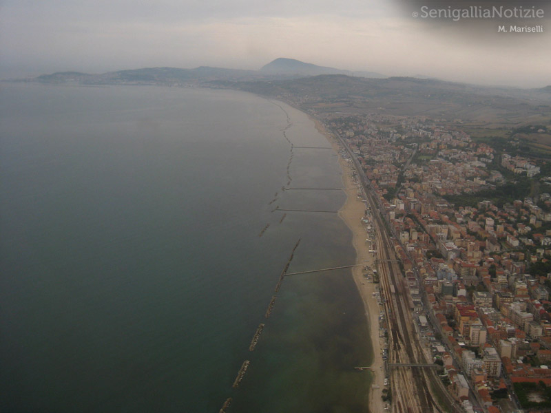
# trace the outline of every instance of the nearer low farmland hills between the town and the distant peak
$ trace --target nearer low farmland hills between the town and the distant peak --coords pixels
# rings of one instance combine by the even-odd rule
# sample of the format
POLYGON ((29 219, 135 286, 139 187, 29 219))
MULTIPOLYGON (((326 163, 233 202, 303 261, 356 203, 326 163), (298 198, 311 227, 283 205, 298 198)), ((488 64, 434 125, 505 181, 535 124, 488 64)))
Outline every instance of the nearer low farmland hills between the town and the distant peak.
POLYGON ((342 74, 291 81, 244 82, 247 92, 287 100, 309 113, 430 116, 470 125, 518 126, 526 118, 548 123, 551 96, 527 89, 481 87, 409 77, 358 78, 342 74))

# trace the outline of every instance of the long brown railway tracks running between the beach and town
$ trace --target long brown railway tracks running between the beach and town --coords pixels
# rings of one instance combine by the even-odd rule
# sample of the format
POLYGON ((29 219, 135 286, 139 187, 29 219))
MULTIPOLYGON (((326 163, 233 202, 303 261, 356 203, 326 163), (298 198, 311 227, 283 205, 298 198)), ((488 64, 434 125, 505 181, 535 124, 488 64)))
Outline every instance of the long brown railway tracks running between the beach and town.
MULTIPOLYGON (((346 145, 342 145, 346 148, 346 145)), ((355 158, 349 153, 353 162, 355 158)), ((355 165, 356 171, 361 171, 355 165)), ((393 251, 393 242, 379 211, 379 204, 370 191, 365 176, 356 176, 359 193, 366 201, 370 230, 371 249, 377 259, 377 273, 380 282, 380 329, 388 332, 382 354, 385 372, 385 411, 395 413, 462 412, 453 396, 444 387, 430 354, 419 341, 415 330, 413 305, 399 261, 393 251), (388 387, 387 387, 388 386, 388 387)), ((375 277, 375 275, 374 275, 375 277)), ((374 327, 374 326, 373 326, 374 327)))

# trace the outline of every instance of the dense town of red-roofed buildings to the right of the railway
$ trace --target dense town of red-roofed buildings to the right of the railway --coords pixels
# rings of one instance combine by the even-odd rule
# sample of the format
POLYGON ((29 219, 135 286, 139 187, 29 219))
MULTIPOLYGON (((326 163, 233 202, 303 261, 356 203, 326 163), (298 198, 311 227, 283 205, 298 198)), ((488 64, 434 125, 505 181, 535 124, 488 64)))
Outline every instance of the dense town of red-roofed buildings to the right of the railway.
MULTIPOLYGON (((464 412, 551 407, 545 160, 519 154, 521 140, 491 145, 426 117, 335 114, 322 122, 376 198, 366 218, 379 214, 392 235, 402 299, 455 403, 464 412)), ((376 273, 366 278, 379 282, 376 273)), ((381 314, 386 332, 392 326, 381 314)))

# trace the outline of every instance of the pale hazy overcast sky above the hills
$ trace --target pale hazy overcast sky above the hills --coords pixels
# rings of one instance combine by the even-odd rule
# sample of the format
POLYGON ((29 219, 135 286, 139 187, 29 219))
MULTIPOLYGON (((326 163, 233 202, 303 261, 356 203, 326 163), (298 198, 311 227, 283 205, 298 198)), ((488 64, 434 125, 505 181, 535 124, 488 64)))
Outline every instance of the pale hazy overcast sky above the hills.
POLYGON ((258 69, 289 57, 391 76, 551 85, 551 12, 521 21, 543 33, 498 33, 495 19, 415 19, 420 3, 393 1, 0 0, 0 78, 154 66, 258 69))

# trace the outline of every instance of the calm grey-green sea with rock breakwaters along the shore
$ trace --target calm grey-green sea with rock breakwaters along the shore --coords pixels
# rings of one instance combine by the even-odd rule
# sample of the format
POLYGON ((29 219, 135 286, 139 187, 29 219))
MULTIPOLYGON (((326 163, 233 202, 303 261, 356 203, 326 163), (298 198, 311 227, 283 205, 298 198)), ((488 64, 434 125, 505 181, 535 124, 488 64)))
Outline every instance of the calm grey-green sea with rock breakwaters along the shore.
POLYGON ((2 83, 0 412, 366 412, 351 270, 275 293, 355 262, 329 147, 245 92, 2 83))

